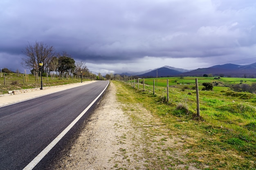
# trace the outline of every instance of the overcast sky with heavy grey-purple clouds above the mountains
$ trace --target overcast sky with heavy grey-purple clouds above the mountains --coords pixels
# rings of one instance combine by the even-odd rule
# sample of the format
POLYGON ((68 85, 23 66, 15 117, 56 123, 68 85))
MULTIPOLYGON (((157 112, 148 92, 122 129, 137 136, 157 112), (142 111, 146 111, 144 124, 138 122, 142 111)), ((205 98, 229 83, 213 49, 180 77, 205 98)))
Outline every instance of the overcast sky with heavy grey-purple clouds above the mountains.
POLYGON ((1 0, 0 67, 43 42, 96 73, 256 62, 255 0, 1 0))

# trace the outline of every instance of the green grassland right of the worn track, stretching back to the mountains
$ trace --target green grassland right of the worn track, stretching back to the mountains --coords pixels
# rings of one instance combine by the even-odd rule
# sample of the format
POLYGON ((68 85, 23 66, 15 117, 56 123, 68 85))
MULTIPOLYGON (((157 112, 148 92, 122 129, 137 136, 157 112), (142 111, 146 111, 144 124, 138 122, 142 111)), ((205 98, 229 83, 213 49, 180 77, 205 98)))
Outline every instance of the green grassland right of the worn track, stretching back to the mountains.
MULTIPOLYGON (((131 106, 142 104, 165 124, 168 138, 184 139, 184 144, 180 148, 167 149, 169 153, 183 150, 183 158, 166 155, 155 160, 148 157, 151 169, 154 169, 154 165, 157 165, 156 168, 161 165, 162 169, 170 170, 191 167, 202 170, 256 170, 256 95, 230 91, 225 87, 239 84, 242 79, 243 82, 251 84, 256 79, 216 80, 213 77, 198 77, 199 84, 216 81, 222 84, 218 86, 217 91, 216 86, 213 87, 213 91, 200 91, 200 118, 195 117, 195 90, 182 91, 183 84, 194 86, 195 77, 168 77, 169 85, 173 86, 169 88, 169 103, 166 103, 166 79, 157 80, 155 95, 151 85, 146 85, 143 90, 143 85, 140 84, 138 90, 137 84, 133 88, 133 83, 115 82, 121 86, 118 90, 120 102, 131 106), (192 95, 188 95, 189 92, 192 95), (175 168, 179 164, 183 164, 183 168, 175 168)), ((145 79, 145 82, 153 84, 153 79, 145 79)), ((129 109, 132 110, 124 108, 129 109)), ((146 133, 153 134, 149 131, 146 133)))

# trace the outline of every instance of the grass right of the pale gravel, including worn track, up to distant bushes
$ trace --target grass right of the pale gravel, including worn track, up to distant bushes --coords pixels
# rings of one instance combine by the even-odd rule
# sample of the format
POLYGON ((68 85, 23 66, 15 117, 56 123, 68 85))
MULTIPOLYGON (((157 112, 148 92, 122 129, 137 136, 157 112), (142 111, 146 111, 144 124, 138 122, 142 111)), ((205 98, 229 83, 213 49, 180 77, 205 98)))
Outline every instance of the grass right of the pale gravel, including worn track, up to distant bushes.
POLYGON ((144 167, 168 170, 256 170, 256 96, 227 95, 227 91, 200 91, 200 119, 195 91, 146 86, 139 90, 117 85, 119 102, 143 131, 144 167), (191 92, 192 95, 187 93, 191 92), (145 109, 138 109, 138 105, 145 109), (141 117, 142 112, 150 115, 141 117))

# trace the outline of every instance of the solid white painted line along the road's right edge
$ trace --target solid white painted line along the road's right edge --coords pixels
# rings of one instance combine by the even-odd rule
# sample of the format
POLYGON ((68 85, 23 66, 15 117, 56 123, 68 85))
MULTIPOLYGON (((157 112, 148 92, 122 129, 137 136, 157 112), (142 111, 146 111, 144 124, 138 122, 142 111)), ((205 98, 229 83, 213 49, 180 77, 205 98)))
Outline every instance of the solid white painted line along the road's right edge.
MULTIPOLYGON (((106 88, 107 87, 108 85, 106 86, 106 88)), ((46 148, 42 150, 42 152, 40 152, 23 170, 32 170, 43 159, 43 157, 45 157, 45 155, 58 143, 58 141, 60 141, 66 135, 66 133, 76 124, 76 122, 79 121, 79 119, 90 109, 90 107, 92 107, 92 105, 97 101, 97 99, 99 99, 99 97, 106 90, 106 88, 104 88, 104 90, 98 95, 98 97, 96 97, 94 101, 92 101, 92 103, 87 108, 85 108, 85 110, 83 110, 83 112, 80 113, 80 115, 76 117, 76 119, 74 119, 74 121, 72 121, 72 123, 67 126, 67 128, 65 128, 48 146, 46 146, 46 148)))

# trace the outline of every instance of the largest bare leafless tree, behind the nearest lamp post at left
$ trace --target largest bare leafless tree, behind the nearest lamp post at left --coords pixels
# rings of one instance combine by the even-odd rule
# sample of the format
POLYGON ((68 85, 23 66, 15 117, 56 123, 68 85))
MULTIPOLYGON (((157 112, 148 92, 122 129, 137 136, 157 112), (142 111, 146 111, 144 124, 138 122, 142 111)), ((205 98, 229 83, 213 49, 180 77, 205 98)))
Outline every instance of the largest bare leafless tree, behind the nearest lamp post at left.
POLYGON ((49 72, 49 64, 55 55, 53 46, 48 46, 43 42, 35 42, 34 45, 28 44, 26 49, 22 51, 27 57, 22 58, 22 66, 25 68, 39 71, 39 62, 43 62, 43 73, 49 72))

